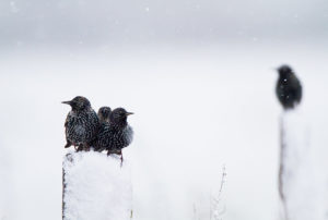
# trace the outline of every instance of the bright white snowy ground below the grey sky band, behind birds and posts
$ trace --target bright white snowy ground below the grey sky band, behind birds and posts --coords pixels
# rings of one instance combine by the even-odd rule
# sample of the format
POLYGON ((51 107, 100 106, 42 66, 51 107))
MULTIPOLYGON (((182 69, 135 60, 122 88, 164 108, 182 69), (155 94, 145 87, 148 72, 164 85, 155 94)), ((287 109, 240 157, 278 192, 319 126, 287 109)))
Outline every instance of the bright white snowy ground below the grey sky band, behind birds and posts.
POLYGON ((194 205, 198 219, 210 219, 211 190, 219 190, 226 164, 223 220, 277 220, 281 107, 272 69, 288 62, 302 81, 314 185, 327 188, 325 46, 49 47, 0 53, 1 148, 12 156, 16 192, 17 218, 11 219, 61 218, 68 109, 60 102, 84 95, 96 110, 106 105, 136 113, 129 119, 134 139, 124 149, 133 168, 133 219, 190 220, 194 205))

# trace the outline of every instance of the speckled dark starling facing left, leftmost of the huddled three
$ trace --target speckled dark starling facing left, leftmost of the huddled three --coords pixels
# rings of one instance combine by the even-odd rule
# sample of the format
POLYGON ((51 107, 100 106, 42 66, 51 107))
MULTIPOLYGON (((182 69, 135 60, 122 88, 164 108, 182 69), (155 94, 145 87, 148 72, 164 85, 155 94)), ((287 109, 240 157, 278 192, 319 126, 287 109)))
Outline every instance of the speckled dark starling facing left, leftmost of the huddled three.
POLYGON ((73 145, 79 150, 89 150, 90 144, 96 138, 99 120, 96 112, 91 108, 90 101, 82 96, 77 96, 70 101, 72 110, 68 113, 65 127, 67 144, 65 148, 73 145))

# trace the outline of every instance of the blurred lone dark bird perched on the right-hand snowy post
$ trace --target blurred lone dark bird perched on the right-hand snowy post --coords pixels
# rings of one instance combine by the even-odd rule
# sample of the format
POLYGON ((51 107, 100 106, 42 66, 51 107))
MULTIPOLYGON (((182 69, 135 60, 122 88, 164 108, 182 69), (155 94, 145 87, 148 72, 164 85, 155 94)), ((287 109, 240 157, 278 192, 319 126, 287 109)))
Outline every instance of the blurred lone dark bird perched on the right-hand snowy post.
POLYGON ((293 70, 288 65, 278 69, 279 78, 277 82, 276 94, 282 105, 286 109, 293 109, 302 99, 302 85, 293 70))

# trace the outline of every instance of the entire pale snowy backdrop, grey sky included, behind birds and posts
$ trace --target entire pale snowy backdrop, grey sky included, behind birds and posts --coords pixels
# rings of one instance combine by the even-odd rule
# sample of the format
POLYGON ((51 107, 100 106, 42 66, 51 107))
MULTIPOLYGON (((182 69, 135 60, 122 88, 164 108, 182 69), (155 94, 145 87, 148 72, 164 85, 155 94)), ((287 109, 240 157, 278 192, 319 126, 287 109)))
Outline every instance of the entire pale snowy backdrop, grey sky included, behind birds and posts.
POLYGON ((328 188, 326 1, 3 0, 0 12, 8 219, 61 218, 60 102, 77 95, 136 113, 133 219, 210 219, 223 166, 224 220, 278 219, 281 63, 304 85, 314 184, 328 188))

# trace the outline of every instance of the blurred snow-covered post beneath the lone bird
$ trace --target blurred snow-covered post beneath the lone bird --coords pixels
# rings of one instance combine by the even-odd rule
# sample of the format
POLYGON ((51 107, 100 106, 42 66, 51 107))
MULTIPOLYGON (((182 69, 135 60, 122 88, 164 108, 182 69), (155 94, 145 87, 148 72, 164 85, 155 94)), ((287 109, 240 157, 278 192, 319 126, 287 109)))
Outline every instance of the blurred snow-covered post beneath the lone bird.
POLYGON ((279 193, 283 219, 323 219, 311 159, 309 131, 304 115, 297 110, 283 112, 280 132, 279 193))

